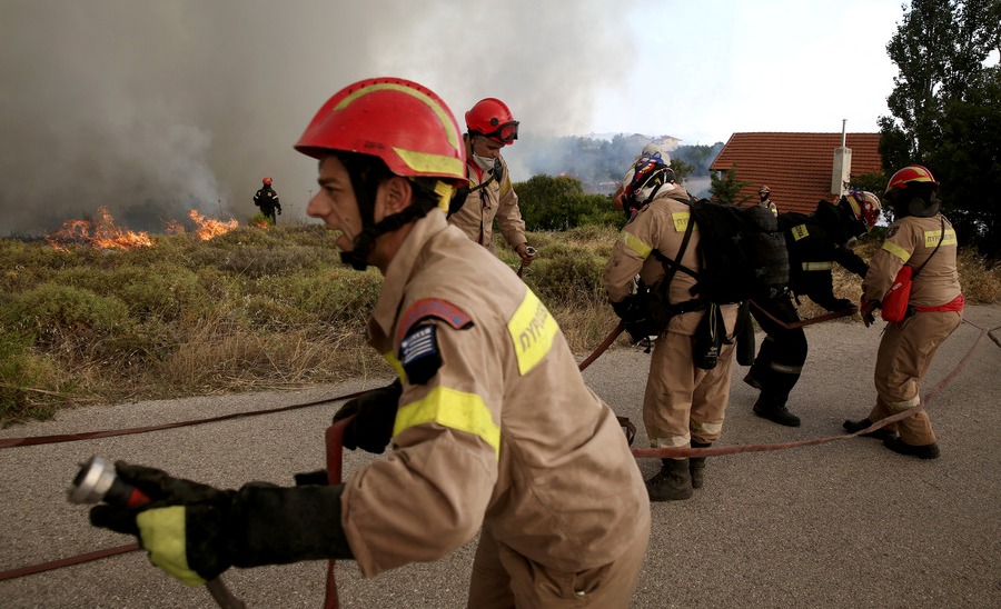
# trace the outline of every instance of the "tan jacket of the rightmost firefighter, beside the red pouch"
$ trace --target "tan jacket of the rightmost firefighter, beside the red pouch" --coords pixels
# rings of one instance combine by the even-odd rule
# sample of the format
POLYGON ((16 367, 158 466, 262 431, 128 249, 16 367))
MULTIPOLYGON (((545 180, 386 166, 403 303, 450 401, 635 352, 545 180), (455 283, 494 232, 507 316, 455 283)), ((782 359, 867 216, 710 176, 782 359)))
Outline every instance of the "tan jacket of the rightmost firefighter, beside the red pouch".
POLYGON ((869 262, 869 272, 862 281, 862 299, 882 300, 901 267, 908 264, 918 270, 925 260, 928 264, 911 286, 910 304, 940 307, 958 297, 961 288, 955 267, 955 230, 949 220, 945 220, 942 246, 932 256, 943 236, 943 220, 941 213, 933 218, 908 216, 890 224, 882 247, 869 262))

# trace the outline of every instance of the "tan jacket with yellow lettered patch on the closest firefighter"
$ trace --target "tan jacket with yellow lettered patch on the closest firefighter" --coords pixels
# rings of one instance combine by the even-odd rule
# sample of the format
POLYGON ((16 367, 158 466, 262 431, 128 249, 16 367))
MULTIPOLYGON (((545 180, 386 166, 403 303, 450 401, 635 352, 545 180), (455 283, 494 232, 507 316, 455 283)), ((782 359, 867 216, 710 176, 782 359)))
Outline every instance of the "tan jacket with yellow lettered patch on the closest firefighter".
POLYGON ((613 561, 650 505, 615 415, 556 321, 500 260, 433 210, 390 262, 369 340, 404 391, 385 459, 358 471, 343 525, 368 577, 435 560, 480 526, 563 571, 613 561), (400 341, 435 329, 440 368, 415 385, 400 341))

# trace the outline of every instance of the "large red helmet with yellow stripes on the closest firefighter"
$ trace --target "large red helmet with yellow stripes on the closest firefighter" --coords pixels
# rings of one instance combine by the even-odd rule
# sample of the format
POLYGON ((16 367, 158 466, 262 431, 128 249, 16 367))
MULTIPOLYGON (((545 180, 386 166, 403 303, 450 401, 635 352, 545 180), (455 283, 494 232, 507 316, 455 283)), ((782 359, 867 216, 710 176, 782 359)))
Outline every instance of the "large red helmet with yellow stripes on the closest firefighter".
POLYGON ((319 109, 295 148, 315 159, 331 150, 370 154, 397 176, 468 183, 452 111, 434 91, 402 78, 345 87, 319 109))

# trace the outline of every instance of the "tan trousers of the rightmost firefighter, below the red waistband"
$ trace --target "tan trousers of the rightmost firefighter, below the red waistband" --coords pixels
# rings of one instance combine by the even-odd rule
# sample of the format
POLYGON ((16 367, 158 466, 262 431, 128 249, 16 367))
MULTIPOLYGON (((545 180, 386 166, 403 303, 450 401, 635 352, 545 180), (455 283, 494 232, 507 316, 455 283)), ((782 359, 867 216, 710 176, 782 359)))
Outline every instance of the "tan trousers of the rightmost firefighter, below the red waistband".
MULTIPOLYGON (((939 350, 963 316, 960 311, 918 312, 900 323, 888 323, 875 365, 876 403, 869 420, 879 421, 921 402, 920 383, 939 350)), ((924 409, 886 426, 909 445, 935 441, 931 419, 924 409)))

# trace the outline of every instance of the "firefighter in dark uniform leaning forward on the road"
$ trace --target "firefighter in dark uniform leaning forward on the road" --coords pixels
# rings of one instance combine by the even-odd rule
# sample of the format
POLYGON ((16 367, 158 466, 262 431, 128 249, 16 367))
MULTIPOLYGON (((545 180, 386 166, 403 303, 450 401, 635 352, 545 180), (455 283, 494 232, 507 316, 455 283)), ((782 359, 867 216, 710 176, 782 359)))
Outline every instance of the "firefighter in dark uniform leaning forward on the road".
POLYGON ((800 426, 800 418, 789 410, 786 402, 806 361, 806 333, 802 328, 786 328, 782 323, 800 321, 795 306, 800 297, 809 297, 829 311, 852 307, 851 300, 834 296, 834 262, 865 277, 869 266, 851 247, 860 236, 872 230, 880 218, 880 199, 875 194, 852 190, 836 206, 817 201, 810 216, 779 214, 779 228, 789 249, 792 293, 771 299, 755 298, 751 302, 751 315, 766 335, 754 365, 744 377, 744 382, 761 390, 753 408, 759 417, 787 427, 800 426))

